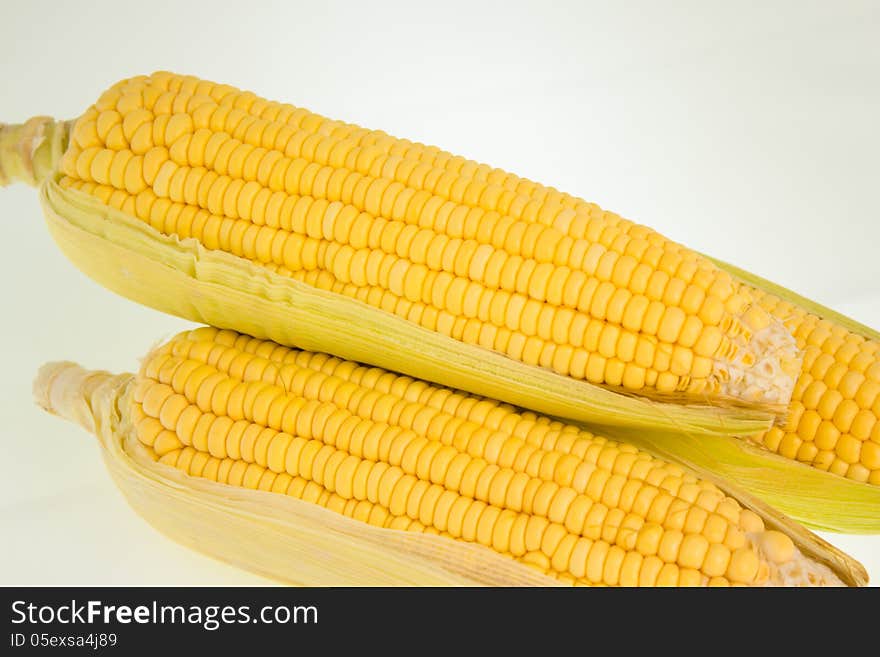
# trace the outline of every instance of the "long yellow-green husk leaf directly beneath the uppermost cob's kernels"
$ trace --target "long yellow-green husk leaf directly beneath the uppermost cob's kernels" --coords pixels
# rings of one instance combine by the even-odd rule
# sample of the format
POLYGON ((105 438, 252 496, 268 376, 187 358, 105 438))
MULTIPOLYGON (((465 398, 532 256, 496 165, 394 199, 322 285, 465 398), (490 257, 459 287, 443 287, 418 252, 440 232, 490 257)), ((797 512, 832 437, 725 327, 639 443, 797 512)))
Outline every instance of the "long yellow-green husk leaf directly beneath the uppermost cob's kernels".
POLYGON ((40 199, 55 241, 86 274, 122 296, 196 322, 582 422, 743 435, 773 421, 762 410, 651 401, 526 365, 197 240, 163 235, 52 180, 42 185, 40 199))

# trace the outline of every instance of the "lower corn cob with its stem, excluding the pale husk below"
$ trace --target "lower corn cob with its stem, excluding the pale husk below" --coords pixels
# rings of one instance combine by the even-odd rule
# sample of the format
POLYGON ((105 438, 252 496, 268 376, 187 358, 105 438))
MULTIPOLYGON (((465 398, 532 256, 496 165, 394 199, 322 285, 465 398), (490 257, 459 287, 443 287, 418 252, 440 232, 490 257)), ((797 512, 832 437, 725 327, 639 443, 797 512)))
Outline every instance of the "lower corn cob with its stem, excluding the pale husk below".
MULTIPOLYGON (((358 528, 351 531, 369 528, 392 544, 402 533, 416 544, 428 535, 445 553, 435 554, 441 571, 473 559, 491 565, 482 583, 830 585, 865 577, 779 514, 756 513, 630 445, 228 330, 182 333, 136 376, 47 366, 36 396, 97 430, 108 453, 156 476, 176 470, 180 485, 206 480, 218 496, 247 489, 256 505, 287 497, 323 507, 358 528), (458 558, 460 548, 468 559, 458 558)), ((239 553, 237 540, 227 537, 226 558, 239 553)), ((292 575, 290 566, 270 574, 336 583, 292 575)))

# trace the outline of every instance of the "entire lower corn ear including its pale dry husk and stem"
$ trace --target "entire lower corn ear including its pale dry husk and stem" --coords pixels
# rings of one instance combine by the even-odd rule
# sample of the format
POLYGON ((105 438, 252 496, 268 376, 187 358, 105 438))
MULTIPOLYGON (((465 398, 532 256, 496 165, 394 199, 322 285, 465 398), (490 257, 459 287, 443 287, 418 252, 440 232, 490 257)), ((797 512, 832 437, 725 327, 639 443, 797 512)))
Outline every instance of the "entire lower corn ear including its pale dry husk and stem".
POLYGON ((284 349, 228 331, 199 329, 181 334, 154 350, 138 375, 112 376, 88 372, 72 363, 49 364, 37 377, 35 396, 43 408, 99 437, 116 483, 132 506, 157 528, 186 545, 285 582, 555 583, 557 579, 548 578, 546 572, 569 583, 695 585, 726 582, 724 577, 710 577, 725 574, 725 569, 733 582, 753 585, 858 585, 866 581, 858 563, 765 505, 737 493, 751 511, 743 509, 714 486, 700 484, 681 469, 632 448, 615 447, 549 419, 517 415, 514 409, 491 400, 480 401, 376 368, 284 349), (319 403, 318 399, 328 401, 319 403), (202 410, 207 408, 213 413, 202 410), (367 419, 388 417, 389 411, 391 425, 367 419), (399 420, 394 419, 397 414, 401 414, 399 420), (495 419, 489 420, 490 416, 495 419), (453 417, 460 419, 450 425, 453 417), (465 417, 474 419, 465 421, 465 417), (479 417, 486 426, 500 423, 499 430, 480 429, 479 417), (428 422, 428 418, 434 421, 428 422), (354 431, 352 420, 358 427, 354 431), (395 429, 394 423, 412 429, 395 429), (441 425, 446 427, 442 431, 441 425), (320 426, 326 426, 326 432, 321 433, 320 426), (426 432, 428 438, 420 437, 419 432, 426 432), (438 432, 447 445, 440 451, 440 443, 430 439, 439 436, 438 432), (379 442, 371 442, 380 434, 383 438, 379 442), (528 439, 515 435, 527 435, 528 439), (390 442, 383 448, 386 436, 390 442), (482 442, 488 436, 492 436, 489 442, 482 442), (499 469, 492 465, 495 459, 500 464, 509 461, 514 453, 501 446, 499 454, 489 455, 501 445, 497 442, 500 438, 504 445, 525 450, 521 453, 529 457, 528 466, 511 467, 525 467, 534 473, 530 481, 537 487, 528 484, 519 489, 525 491, 521 512, 515 511, 518 506, 510 506, 517 499, 513 488, 497 497, 504 487, 514 487, 514 481, 521 485, 528 479, 525 474, 511 479, 513 471, 505 469, 508 466, 499 469), (561 452, 550 447, 557 440, 561 442, 556 449, 561 452), (529 446, 530 442, 551 451, 529 446), (466 444, 467 452, 456 451, 466 444), (372 453, 376 446, 378 462, 359 459, 361 450, 372 453), (412 452, 413 448, 417 451, 412 452), (391 450, 390 456, 382 455, 384 449, 391 450), (571 452, 564 455, 569 449, 571 452), (458 456, 448 461, 452 453, 458 456), (488 463, 476 456, 481 453, 488 463), (441 458, 441 454, 445 456, 441 458), (609 455, 617 464, 613 466, 617 474, 611 479, 603 470, 611 467, 606 458, 609 455), (435 483, 425 481, 426 474, 419 474, 418 482, 410 475, 400 478, 403 473, 398 470, 395 474, 397 466, 389 469, 387 463, 382 465, 386 458, 399 462, 405 472, 418 461, 418 470, 412 472, 430 471, 435 483), (424 458, 428 460, 423 462, 424 458), (445 467, 452 479, 446 479, 445 489, 436 483, 443 481, 444 467, 439 466, 440 461, 429 465, 436 459, 449 464, 445 467), (313 461, 318 468, 314 471, 313 461), (553 467, 548 470, 548 466, 553 467), (631 475, 622 474, 630 469, 631 475), (366 474, 374 470, 383 473, 380 479, 366 474), (539 470, 539 478, 534 479, 539 470), (453 471, 459 474, 452 475, 453 471), (483 475, 473 479, 477 472, 487 473, 489 479, 484 482, 483 475), (581 472, 589 483, 587 479, 578 483, 581 472), (620 488, 621 477, 627 476, 631 485, 620 488), (352 477, 361 483, 352 483, 352 477), (398 483, 388 484, 388 488, 387 477, 398 483), (488 483, 490 479, 492 483, 488 483), (571 480, 574 489, 553 483, 554 479, 571 480), (659 497, 645 497, 654 491, 649 481, 660 484, 659 497), (414 482, 415 487, 410 488, 414 482), (358 493, 359 486, 366 488, 358 493), (477 500, 485 499, 486 503, 468 497, 473 486, 477 500), (489 488, 482 488, 485 486, 489 488), (603 486, 607 488, 604 493, 603 486), (261 490, 252 490, 257 488, 261 490), (269 490, 273 492, 264 492, 269 490), (369 490, 378 493, 366 492, 369 490), (576 490, 584 493, 579 496, 576 490), (626 490, 630 492, 623 492, 626 490), (663 492, 666 490, 670 492, 663 492), (378 500, 372 497, 375 494, 378 500), (361 495, 367 495, 370 503, 361 495), (630 515, 614 510, 617 495, 622 496, 619 504, 631 508, 630 515), (584 496, 598 497, 593 498, 591 507, 584 496), (627 496, 630 501, 624 502, 627 496), (306 499, 310 501, 303 501, 306 499), (426 507, 429 499, 432 502, 426 507), (592 509, 589 513, 588 508, 592 509), (648 514, 647 520, 639 519, 641 513, 648 514), (353 518, 344 517, 349 515, 353 518), (664 516, 666 520, 662 520, 664 516), (558 524, 563 517, 564 526, 558 524), (486 522, 489 524, 484 526, 486 522), (584 538, 578 538, 581 531, 584 538), (660 559, 669 564, 663 568, 657 556, 642 556, 654 553, 658 545, 660 559), (512 554, 501 556, 494 551, 507 549, 512 554), (693 559, 696 561, 689 566, 693 559))

